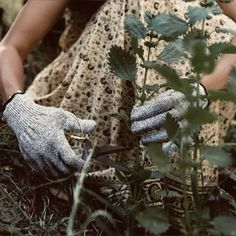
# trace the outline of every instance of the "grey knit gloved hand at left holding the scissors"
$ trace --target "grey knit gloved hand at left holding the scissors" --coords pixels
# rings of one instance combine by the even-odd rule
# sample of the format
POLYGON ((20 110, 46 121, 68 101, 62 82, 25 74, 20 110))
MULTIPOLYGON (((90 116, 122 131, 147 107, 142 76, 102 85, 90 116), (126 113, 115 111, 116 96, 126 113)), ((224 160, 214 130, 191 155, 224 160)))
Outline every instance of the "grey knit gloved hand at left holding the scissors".
POLYGON ((15 132, 21 153, 35 171, 59 177, 79 171, 84 160, 70 147, 65 130, 90 133, 96 123, 72 113, 36 104, 27 94, 17 94, 6 105, 3 119, 15 132))

